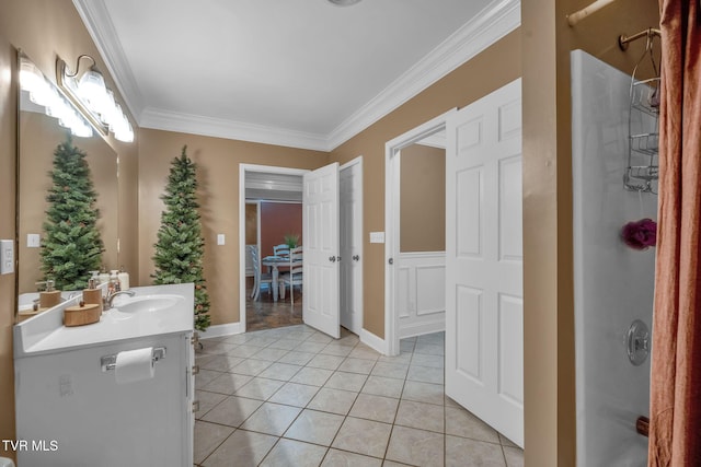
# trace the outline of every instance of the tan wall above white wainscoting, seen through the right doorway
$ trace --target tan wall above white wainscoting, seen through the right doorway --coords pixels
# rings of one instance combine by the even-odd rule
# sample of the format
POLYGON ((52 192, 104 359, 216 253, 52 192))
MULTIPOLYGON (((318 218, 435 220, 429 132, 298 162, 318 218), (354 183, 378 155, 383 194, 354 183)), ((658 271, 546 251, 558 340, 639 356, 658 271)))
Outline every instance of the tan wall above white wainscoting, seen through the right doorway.
POLYGON ((445 252, 446 150, 411 144, 400 157, 400 252, 445 252))

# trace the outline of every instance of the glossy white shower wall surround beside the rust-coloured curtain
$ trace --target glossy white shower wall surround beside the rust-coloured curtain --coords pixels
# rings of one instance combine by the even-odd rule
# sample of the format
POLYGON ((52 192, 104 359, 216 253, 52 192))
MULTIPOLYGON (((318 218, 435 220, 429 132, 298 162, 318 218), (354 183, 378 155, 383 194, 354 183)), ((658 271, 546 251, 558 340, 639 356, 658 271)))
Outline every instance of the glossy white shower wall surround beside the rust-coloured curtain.
POLYGON ((571 59, 577 465, 643 466, 650 358, 633 365, 625 338, 636 319, 652 328, 655 248, 620 231, 656 220, 657 196, 623 187, 631 77, 582 50, 571 59))

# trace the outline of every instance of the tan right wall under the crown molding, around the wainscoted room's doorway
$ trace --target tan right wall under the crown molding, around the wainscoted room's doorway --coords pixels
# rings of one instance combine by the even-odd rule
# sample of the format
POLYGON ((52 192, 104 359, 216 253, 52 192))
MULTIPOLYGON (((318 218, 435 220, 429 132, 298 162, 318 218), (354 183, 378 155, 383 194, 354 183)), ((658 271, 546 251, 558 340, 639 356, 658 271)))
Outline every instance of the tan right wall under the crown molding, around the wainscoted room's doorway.
POLYGON ((384 245, 369 243, 367 233, 384 231, 384 143, 514 81, 521 74, 520 54, 517 30, 332 151, 332 160, 342 164, 364 156, 363 327, 376 336, 384 338, 384 245))

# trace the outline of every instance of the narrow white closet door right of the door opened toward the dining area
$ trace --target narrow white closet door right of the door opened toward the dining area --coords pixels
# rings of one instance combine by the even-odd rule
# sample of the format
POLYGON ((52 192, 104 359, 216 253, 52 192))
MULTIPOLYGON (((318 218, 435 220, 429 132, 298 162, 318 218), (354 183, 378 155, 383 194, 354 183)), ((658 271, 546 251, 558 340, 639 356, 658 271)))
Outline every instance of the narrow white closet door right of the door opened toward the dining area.
POLYGON ((363 328, 363 165, 341 168, 341 325, 363 328))

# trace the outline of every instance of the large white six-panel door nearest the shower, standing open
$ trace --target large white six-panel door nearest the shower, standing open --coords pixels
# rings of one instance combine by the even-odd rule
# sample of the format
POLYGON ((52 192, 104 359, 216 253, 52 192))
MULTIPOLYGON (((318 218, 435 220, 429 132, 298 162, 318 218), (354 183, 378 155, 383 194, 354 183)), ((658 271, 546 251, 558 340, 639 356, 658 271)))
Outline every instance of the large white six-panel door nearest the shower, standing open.
POLYGON ((446 128, 446 394, 522 447, 520 79, 446 128))

